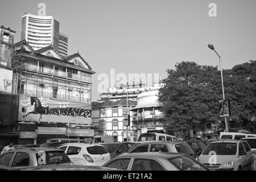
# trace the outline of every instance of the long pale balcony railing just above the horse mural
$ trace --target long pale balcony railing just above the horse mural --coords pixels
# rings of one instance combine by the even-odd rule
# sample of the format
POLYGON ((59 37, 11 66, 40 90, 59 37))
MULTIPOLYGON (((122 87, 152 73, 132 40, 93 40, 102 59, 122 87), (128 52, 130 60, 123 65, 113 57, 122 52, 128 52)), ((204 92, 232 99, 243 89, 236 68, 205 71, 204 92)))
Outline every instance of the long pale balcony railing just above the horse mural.
POLYGON ((34 97, 46 97, 46 98, 57 98, 60 100, 68 100, 68 101, 76 101, 76 102, 86 102, 89 103, 91 102, 91 100, 89 98, 80 98, 80 97, 74 97, 74 96, 65 96, 63 94, 56 94, 55 96, 53 96, 52 93, 49 92, 41 92, 38 91, 36 93, 36 90, 24 90, 23 92, 21 92, 22 94, 26 94, 27 96, 34 96, 34 97))

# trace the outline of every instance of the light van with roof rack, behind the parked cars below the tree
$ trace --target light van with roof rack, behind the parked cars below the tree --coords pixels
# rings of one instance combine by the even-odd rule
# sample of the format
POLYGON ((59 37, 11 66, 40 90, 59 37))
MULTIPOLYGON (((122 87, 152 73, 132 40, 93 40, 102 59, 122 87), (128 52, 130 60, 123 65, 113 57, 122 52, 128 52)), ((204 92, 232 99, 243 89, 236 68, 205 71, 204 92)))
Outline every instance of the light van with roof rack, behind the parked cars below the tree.
POLYGON ((144 142, 149 140, 174 141, 177 140, 177 138, 175 136, 163 133, 143 133, 139 135, 138 142, 144 142))

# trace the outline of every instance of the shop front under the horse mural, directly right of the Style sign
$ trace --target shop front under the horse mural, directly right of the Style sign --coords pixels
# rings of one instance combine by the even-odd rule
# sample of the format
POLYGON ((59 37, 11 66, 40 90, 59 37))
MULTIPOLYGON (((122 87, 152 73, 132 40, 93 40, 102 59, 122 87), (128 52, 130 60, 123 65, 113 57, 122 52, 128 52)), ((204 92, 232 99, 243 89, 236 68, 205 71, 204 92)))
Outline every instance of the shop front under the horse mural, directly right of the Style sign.
POLYGON ((37 144, 50 142, 52 138, 66 138, 65 127, 38 127, 37 133, 37 144))

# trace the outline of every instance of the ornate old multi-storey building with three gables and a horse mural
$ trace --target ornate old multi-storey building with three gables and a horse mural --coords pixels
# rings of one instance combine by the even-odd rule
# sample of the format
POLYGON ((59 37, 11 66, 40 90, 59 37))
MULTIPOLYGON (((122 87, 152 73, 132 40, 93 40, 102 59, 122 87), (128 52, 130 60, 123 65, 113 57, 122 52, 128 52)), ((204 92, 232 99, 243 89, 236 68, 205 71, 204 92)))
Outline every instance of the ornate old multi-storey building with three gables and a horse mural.
POLYGON ((18 143, 44 143, 52 138, 90 142, 95 72, 89 64, 79 53, 64 59, 51 45, 35 51, 22 40, 15 47, 14 56, 24 62, 22 73, 13 81, 13 93, 19 96, 18 143))

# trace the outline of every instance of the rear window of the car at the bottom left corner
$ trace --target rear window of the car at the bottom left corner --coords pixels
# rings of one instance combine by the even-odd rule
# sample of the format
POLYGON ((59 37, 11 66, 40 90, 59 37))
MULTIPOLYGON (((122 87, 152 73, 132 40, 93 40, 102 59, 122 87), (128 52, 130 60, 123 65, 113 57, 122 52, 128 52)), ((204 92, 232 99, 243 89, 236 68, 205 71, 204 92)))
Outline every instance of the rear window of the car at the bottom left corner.
POLYGON ((69 163, 70 159, 64 151, 39 151, 36 153, 38 165, 69 163))

